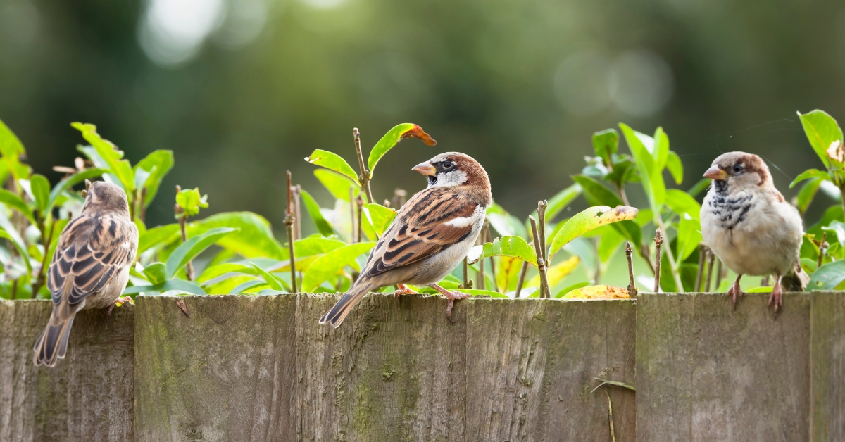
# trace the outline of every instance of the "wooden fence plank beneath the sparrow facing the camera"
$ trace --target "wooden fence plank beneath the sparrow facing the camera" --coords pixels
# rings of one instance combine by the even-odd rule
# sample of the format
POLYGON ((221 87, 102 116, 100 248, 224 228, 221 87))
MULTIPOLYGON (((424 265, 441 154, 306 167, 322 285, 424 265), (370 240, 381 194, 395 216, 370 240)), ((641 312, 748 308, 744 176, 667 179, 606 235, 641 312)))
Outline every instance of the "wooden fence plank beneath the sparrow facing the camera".
POLYGON ((810 438, 810 295, 637 299, 638 440, 810 438))

